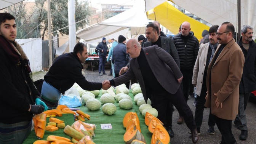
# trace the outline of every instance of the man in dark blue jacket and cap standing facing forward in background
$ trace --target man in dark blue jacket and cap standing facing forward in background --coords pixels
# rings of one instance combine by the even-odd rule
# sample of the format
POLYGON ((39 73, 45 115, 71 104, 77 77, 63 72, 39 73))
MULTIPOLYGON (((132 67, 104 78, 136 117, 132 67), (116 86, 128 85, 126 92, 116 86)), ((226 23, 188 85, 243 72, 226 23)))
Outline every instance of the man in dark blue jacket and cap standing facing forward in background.
POLYGON ((99 45, 96 46, 96 49, 99 50, 99 75, 102 73, 106 75, 105 73, 105 64, 106 64, 106 56, 109 49, 107 48, 106 38, 102 38, 102 42, 99 43, 99 45))

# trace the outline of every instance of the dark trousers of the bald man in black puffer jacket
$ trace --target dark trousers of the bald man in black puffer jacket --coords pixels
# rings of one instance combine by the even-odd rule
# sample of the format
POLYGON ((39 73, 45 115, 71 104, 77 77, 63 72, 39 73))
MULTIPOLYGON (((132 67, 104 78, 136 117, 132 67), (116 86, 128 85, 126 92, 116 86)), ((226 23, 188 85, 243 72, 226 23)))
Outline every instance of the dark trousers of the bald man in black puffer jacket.
POLYGON ((186 98, 186 101, 189 99, 189 89, 190 83, 192 82, 193 77, 193 69, 181 69, 181 73, 183 74, 183 79, 181 82, 181 90, 186 98))

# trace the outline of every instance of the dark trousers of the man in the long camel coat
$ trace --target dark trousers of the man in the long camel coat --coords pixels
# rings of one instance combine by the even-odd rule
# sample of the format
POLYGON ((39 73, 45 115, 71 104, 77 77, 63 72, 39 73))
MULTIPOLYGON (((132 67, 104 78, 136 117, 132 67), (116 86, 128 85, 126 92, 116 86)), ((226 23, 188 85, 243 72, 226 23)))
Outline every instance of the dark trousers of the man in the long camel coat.
POLYGON ((225 120, 215 116, 216 125, 221 132, 221 144, 235 144, 235 137, 232 134, 232 120, 225 120))

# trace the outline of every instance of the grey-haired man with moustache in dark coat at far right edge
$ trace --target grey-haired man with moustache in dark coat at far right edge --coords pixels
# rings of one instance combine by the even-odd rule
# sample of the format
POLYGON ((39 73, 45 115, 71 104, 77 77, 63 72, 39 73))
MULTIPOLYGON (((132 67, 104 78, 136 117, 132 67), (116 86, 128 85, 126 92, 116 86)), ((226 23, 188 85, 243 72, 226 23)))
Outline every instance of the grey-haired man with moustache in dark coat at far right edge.
POLYGON ((243 67, 243 75, 239 85, 239 104, 238 115, 235 118, 235 126, 241 130, 239 139, 245 140, 248 137, 248 128, 246 126, 245 109, 251 91, 255 90, 256 86, 256 45, 252 40, 253 27, 244 25, 241 30, 242 37, 237 42, 243 51, 245 64, 243 67))

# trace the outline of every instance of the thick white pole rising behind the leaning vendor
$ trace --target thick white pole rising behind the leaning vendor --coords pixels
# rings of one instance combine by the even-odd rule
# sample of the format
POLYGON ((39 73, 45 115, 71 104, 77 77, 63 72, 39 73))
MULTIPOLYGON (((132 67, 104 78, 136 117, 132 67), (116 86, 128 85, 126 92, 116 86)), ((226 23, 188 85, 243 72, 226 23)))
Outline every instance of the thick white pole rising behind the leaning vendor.
POLYGON ((69 52, 73 52, 73 49, 76 44, 76 35, 75 35, 75 1, 69 0, 67 3, 68 12, 69 12, 69 52))

